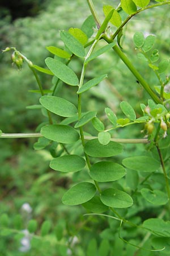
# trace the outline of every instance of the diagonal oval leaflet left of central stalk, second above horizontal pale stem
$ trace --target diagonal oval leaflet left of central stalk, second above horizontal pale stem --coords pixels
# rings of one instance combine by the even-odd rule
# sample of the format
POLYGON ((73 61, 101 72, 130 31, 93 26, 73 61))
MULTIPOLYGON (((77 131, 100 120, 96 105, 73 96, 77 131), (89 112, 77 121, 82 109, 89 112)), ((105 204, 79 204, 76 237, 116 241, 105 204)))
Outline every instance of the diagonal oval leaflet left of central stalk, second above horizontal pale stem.
POLYGON ((74 86, 79 84, 78 77, 74 71, 61 61, 48 57, 45 59, 45 63, 50 71, 66 84, 74 86))

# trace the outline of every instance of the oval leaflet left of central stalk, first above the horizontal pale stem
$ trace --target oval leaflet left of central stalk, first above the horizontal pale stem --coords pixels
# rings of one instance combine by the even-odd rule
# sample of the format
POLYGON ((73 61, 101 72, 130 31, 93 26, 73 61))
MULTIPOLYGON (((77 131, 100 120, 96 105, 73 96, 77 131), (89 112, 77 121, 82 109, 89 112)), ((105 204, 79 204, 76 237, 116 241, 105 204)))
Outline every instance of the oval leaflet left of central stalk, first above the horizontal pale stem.
POLYGON ((50 112, 61 117, 73 117, 77 113, 76 107, 64 98, 56 96, 42 96, 40 103, 50 112))

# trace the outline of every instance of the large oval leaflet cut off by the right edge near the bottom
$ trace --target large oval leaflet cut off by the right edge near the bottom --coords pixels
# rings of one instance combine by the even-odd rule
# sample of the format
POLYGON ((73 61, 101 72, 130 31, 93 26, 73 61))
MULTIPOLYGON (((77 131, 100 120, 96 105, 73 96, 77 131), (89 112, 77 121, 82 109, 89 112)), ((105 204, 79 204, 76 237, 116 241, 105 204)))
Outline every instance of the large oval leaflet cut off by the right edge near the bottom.
POLYGON ((143 222, 143 228, 149 229, 152 234, 160 237, 170 237, 170 221, 164 221, 161 218, 148 218, 143 222))

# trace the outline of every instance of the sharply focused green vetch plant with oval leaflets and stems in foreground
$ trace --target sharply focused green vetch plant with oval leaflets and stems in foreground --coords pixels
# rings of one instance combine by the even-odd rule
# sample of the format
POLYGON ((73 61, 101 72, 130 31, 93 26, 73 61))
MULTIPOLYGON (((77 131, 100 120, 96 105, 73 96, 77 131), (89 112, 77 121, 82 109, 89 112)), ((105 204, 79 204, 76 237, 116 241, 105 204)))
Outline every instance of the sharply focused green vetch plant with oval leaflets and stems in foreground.
MULTIPOLYGON (((153 3, 149 0, 121 0, 118 6, 104 5, 103 22, 98 17, 92 0, 87 0, 87 3, 92 15, 88 16, 82 27, 60 31, 64 47, 46 47, 54 55, 45 59, 47 68, 33 64, 15 47, 7 47, 3 51, 12 50, 11 59, 18 69, 22 69, 24 63, 28 64, 41 93, 40 105, 32 106, 32 109, 42 108, 48 121, 45 120, 45 125, 40 125, 40 133, 2 132, 1 138, 39 137, 34 144, 36 150, 49 145, 56 150, 55 157, 50 161, 50 168, 69 177, 76 172, 86 171, 86 179, 70 185, 62 196, 62 203, 70 206, 83 205, 87 209, 85 219, 87 216, 96 219, 107 218, 109 231, 107 229, 108 233, 105 232, 103 235, 99 247, 96 240, 91 240, 88 246, 82 246, 83 250, 77 254, 76 249, 74 252, 76 242, 68 240, 67 252, 60 251, 58 255, 67 255, 68 250, 69 255, 114 255, 117 243, 114 242, 112 246, 111 241, 115 237, 110 237, 110 233, 116 234, 118 240, 124 241, 121 256, 142 255, 142 250, 145 250, 147 255, 168 255, 170 93, 165 88, 170 80, 169 59, 159 60, 161 53, 155 48, 155 35, 148 35, 145 38, 142 32, 135 32, 133 40, 137 57, 139 61, 148 64, 148 68, 151 68, 158 80, 159 85, 153 87, 145 80, 145 74, 139 73, 125 55, 121 37, 124 34, 124 27, 133 16, 158 6, 167 5, 169 8, 170 1, 153 3), (101 41, 105 45, 99 47, 101 41), (141 116, 137 116, 130 102, 124 100, 120 102, 120 117, 106 106, 103 113, 109 123, 107 127, 96 110, 82 109, 82 102, 88 90, 109 78, 107 73, 100 73, 86 81, 86 72, 91 67, 91 62, 112 50, 128 67, 141 88, 147 92, 148 101, 147 105, 140 102, 143 113, 141 116), (80 76, 70 67, 70 62, 74 58, 82 63, 80 76), (38 72, 52 76, 52 87, 49 90, 43 89, 38 72), (63 83, 63 90, 65 86, 70 86, 70 92, 73 90, 77 99, 76 105, 73 101, 57 95, 60 82, 63 83), (56 117, 61 117, 59 122, 56 117), (89 134, 86 130, 88 125, 93 127, 95 135, 89 134), (143 126, 143 138, 130 138, 130 135, 125 139, 114 138, 114 130, 135 125, 143 126), (125 143, 143 143, 146 144, 146 150, 122 159, 125 143), (143 204, 155 212, 142 220, 140 212, 143 204), (125 251, 128 254, 125 254, 125 251)), ((3 218, 2 222, 5 222, 3 218)), ((33 230, 31 233, 36 231, 36 228, 31 228, 34 224, 29 223, 29 230, 33 230)), ((50 222, 46 221, 42 224, 41 236, 46 236, 49 231, 50 222)), ((58 237, 57 239, 59 241, 58 237)))

